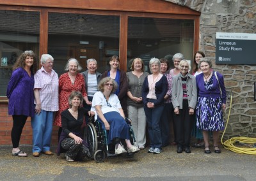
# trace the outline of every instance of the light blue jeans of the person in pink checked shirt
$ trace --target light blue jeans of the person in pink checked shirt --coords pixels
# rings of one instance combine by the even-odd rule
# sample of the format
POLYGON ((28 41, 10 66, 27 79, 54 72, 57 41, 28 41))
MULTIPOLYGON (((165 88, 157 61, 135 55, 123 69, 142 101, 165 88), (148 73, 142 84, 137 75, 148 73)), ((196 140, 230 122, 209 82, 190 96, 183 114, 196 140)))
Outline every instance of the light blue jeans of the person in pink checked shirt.
POLYGON ((31 119, 33 129, 32 152, 46 152, 51 147, 53 112, 41 110, 31 119))

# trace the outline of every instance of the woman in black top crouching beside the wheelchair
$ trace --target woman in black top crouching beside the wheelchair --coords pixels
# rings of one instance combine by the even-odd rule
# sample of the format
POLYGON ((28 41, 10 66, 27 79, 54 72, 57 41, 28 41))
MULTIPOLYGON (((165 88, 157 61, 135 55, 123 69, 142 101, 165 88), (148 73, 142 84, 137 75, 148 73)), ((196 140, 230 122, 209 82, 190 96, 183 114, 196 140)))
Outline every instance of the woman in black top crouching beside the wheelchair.
POLYGON ((62 133, 58 144, 58 156, 61 152, 66 152, 67 161, 81 161, 85 156, 91 157, 87 143, 81 137, 84 115, 93 116, 95 113, 81 107, 83 95, 79 91, 71 92, 68 105, 70 108, 61 112, 62 133))

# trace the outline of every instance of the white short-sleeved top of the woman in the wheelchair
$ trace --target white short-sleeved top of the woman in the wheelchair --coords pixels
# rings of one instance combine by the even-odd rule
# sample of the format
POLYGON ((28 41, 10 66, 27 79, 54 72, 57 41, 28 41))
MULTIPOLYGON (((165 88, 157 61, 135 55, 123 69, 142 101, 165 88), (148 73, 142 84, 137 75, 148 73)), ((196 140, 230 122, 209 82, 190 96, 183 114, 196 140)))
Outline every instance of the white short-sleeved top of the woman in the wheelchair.
POLYGON ((104 94, 101 91, 98 91, 94 94, 93 99, 92 99, 92 108, 91 111, 95 112, 95 120, 97 119, 97 112, 95 109, 95 106, 101 106, 101 111, 102 113, 108 113, 108 112, 119 112, 119 108, 122 108, 120 105, 120 101, 116 94, 111 94, 108 103, 106 98, 104 97, 104 94), (111 105, 111 106, 109 106, 111 105))

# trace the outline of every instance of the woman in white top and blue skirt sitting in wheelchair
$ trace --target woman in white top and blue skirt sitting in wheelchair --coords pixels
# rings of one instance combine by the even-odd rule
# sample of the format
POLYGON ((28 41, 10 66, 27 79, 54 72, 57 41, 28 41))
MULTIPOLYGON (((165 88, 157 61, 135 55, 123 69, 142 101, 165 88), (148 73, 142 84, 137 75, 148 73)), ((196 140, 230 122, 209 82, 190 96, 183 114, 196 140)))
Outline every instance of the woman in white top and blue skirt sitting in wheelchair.
POLYGON ((102 128, 108 131, 108 144, 115 143, 115 154, 138 152, 140 149, 131 144, 124 111, 118 97, 114 94, 117 87, 115 80, 110 77, 100 80, 99 91, 93 96, 91 110, 95 112, 95 119, 102 123, 102 128), (125 140, 127 150, 120 139, 125 140))

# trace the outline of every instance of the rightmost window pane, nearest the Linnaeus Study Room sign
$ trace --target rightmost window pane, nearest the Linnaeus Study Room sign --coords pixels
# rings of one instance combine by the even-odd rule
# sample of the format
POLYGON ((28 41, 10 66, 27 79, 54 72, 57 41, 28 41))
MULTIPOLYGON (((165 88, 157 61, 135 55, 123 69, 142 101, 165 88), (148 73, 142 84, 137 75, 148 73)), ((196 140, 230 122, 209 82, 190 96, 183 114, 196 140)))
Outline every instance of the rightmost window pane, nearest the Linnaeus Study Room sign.
POLYGON ((129 17, 127 71, 134 57, 143 59, 146 70, 152 57, 161 59, 180 52, 192 60, 193 36, 194 20, 129 17))

